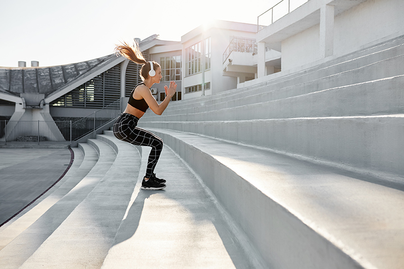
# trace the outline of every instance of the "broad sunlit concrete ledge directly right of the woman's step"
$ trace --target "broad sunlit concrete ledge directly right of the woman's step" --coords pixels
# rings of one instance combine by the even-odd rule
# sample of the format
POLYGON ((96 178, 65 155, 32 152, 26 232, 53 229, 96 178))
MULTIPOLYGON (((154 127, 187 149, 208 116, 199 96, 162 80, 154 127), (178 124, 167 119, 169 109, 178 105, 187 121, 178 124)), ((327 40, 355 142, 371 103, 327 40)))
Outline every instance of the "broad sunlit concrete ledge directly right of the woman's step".
MULTIPOLYGON (((398 269, 404 264, 402 181, 393 185, 261 148, 149 130, 200 176, 268 267, 398 269)), ((139 199, 143 212, 149 203, 144 198, 139 199)), ((140 209, 133 210, 139 217, 140 209)))

